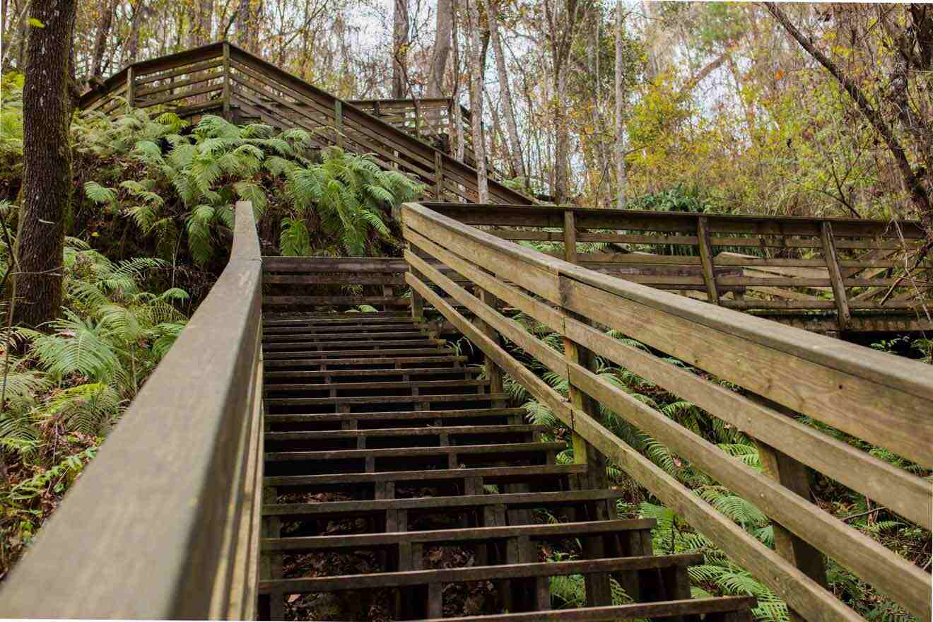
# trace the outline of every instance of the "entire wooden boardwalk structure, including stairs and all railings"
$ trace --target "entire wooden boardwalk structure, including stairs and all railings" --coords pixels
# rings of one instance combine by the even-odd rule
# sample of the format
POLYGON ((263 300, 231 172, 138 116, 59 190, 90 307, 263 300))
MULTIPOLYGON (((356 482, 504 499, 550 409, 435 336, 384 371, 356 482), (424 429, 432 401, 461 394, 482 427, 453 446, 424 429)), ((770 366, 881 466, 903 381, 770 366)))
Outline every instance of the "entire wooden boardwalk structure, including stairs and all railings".
MULTIPOLYGON (((470 200, 466 164, 227 44, 137 63, 84 104, 106 111, 122 92, 158 105, 189 87, 183 99, 221 93, 190 114, 227 113, 244 76, 294 113, 279 120, 324 128, 322 145, 376 151, 433 179, 436 197, 470 200)), ((238 203, 228 266, 0 588, 0 616, 284 619, 337 593, 359 619, 378 606, 439 620, 457 587, 480 583, 480 611, 457 619, 747 621, 752 598, 690 598, 701 552, 657 554, 653 521, 620 518, 611 464, 795 617, 862 620, 829 590, 830 559, 929 619, 930 574, 815 505, 809 473, 933 528, 930 482, 911 470, 933 468, 933 367, 769 319, 830 333, 873 329, 870 313, 922 323, 926 265, 903 263, 916 224, 522 206, 506 190, 516 204, 403 205, 396 259, 261 256, 238 203), (636 399, 604 363, 742 431, 763 469, 636 399), (556 430, 526 421, 511 382, 556 430), (774 546, 613 434, 605 412, 758 507, 774 546), (555 544, 567 559, 542 555, 555 544), (443 547, 461 561, 439 562, 443 547), (585 606, 551 609, 550 578, 566 575, 582 576, 585 606)))

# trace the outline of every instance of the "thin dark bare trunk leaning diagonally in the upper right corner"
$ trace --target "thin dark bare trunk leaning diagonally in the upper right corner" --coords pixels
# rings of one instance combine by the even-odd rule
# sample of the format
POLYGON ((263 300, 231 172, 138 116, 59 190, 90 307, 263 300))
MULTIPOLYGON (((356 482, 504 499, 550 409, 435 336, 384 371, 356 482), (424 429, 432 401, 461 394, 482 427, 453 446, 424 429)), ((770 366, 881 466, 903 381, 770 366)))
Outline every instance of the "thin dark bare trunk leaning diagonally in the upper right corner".
POLYGON ((887 145, 888 150, 891 152, 891 155, 898 165, 898 172, 904 182, 904 187, 907 188, 913 206, 926 229, 927 241, 933 243, 933 201, 930 200, 926 187, 924 187, 920 179, 920 175, 913 171, 911 163, 907 159, 907 153, 904 151, 904 147, 900 145, 898 138, 894 135, 894 131, 888 126, 882 114, 870 104, 865 93, 863 93, 856 84, 856 81, 842 74, 842 70, 836 66, 834 62, 830 61, 829 57, 815 48, 814 44, 803 36, 801 32, 797 30, 797 27, 787 19, 787 15, 784 14, 784 11, 782 11, 780 7, 777 7, 773 2, 766 2, 764 6, 773 15, 774 20, 784 26, 787 34, 801 45, 801 48, 805 49, 814 57, 816 62, 823 65, 827 71, 839 81, 842 88, 855 100, 862 115, 869 120, 875 131, 881 134, 885 145, 887 145))

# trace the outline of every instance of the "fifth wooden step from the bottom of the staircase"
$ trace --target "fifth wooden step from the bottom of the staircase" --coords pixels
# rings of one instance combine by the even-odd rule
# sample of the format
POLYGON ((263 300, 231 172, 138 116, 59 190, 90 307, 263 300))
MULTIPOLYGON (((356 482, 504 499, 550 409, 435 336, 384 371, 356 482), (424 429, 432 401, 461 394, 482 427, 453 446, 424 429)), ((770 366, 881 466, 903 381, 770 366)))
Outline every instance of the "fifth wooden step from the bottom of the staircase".
POLYGON ((487 483, 525 481, 549 477, 565 477, 586 473, 586 464, 534 464, 532 466, 480 466, 462 469, 433 469, 427 471, 380 471, 378 473, 341 473, 323 476, 265 477, 266 486, 277 488, 337 486, 343 484, 375 484, 380 482, 411 482, 427 480, 456 480, 481 477, 487 483))

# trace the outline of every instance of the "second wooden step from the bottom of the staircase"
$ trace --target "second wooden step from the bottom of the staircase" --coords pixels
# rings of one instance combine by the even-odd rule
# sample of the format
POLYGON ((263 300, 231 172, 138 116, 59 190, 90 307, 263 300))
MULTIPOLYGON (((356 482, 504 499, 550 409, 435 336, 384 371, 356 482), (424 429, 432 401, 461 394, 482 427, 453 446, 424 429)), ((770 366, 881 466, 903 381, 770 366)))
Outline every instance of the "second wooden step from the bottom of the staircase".
POLYGON ((281 589, 285 594, 335 592, 378 587, 426 586, 441 583, 520 579, 536 576, 565 576, 567 574, 599 574, 622 571, 688 567, 703 563, 702 553, 677 555, 640 555, 626 558, 598 560, 551 561, 538 563, 473 566, 438 570, 415 570, 400 573, 344 574, 339 576, 273 579, 259 582, 259 592, 267 594, 281 589))

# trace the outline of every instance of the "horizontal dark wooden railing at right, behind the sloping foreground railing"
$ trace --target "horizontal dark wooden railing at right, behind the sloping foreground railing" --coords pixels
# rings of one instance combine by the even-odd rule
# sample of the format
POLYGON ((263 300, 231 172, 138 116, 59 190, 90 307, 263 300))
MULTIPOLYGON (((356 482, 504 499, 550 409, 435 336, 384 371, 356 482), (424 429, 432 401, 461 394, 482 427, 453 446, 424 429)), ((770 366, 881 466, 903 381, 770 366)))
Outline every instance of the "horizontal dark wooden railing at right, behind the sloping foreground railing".
POLYGON ((578 265, 799 327, 933 327, 925 309, 933 262, 917 263, 924 232, 916 222, 425 205, 503 239, 550 244, 552 256, 564 256, 569 231, 578 265))

